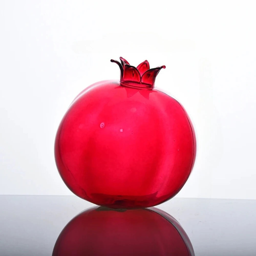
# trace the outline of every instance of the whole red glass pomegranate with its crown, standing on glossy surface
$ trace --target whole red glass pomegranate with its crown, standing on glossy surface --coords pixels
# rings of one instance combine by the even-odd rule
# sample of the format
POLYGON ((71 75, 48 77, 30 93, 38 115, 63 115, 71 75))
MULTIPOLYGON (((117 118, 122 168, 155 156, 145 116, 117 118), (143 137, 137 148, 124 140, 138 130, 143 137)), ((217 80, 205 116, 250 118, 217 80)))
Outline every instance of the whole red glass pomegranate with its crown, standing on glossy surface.
POLYGON ((68 188, 112 208, 160 204, 183 187, 196 140, 182 105, 154 89, 158 72, 123 59, 120 81, 83 90, 69 106, 55 140, 55 159, 68 188))

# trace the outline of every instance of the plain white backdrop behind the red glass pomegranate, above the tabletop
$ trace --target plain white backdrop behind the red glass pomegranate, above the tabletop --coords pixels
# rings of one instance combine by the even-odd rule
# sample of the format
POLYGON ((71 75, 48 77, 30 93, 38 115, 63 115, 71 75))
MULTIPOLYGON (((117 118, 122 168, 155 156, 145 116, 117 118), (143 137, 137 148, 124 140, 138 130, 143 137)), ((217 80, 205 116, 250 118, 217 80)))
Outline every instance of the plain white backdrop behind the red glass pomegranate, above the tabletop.
POLYGON ((58 124, 110 62, 166 65, 156 87, 179 100, 197 134, 177 196, 256 199, 253 1, 1 1, 0 194, 71 192, 54 161, 58 124))

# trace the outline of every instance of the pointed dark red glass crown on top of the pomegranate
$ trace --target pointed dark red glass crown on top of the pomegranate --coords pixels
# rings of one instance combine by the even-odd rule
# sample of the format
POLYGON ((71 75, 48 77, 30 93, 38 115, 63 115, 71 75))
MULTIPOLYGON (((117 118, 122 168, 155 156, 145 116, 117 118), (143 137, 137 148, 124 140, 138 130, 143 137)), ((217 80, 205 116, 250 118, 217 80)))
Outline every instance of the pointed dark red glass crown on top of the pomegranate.
POLYGON ((152 89, 155 84, 155 79, 158 72, 165 68, 160 66, 157 68, 149 68, 147 60, 143 61, 137 68, 131 66, 127 60, 120 57, 121 63, 117 60, 110 60, 115 62, 120 67, 120 83, 130 87, 148 88, 152 89))

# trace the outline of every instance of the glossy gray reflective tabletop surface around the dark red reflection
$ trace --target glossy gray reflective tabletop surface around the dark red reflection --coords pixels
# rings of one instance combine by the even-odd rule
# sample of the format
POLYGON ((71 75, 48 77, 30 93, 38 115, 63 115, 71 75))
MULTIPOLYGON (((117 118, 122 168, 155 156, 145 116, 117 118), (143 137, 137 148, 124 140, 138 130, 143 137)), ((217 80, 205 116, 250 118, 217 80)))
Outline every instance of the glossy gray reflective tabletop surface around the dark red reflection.
MULTIPOLYGON (((1 256, 51 255, 64 226, 94 206, 76 196, 0 196, 0 205, 1 256)), ((157 208, 180 222, 195 255, 256 255, 256 200, 173 198, 157 208)))

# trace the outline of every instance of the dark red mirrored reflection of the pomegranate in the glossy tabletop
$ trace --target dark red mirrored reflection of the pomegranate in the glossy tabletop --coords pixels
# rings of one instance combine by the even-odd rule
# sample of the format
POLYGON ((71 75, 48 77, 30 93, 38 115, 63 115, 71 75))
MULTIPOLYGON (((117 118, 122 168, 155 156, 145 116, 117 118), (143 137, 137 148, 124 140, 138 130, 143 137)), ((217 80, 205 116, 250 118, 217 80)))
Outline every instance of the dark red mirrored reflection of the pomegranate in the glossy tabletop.
POLYGON ((61 231, 53 256, 195 255, 177 220, 155 207, 93 207, 74 217, 61 231))

